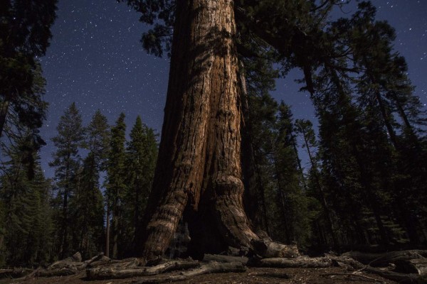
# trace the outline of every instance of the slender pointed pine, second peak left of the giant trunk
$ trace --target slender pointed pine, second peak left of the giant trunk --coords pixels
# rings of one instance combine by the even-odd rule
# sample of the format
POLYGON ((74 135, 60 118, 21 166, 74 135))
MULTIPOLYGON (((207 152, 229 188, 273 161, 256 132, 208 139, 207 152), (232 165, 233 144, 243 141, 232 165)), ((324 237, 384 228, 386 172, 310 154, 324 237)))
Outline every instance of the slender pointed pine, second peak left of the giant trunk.
MULTIPOLYGON (((107 208, 111 210, 110 212, 112 214, 112 258, 117 258, 119 253, 123 253, 123 251, 119 251, 119 249, 122 249, 119 248, 119 238, 123 233, 123 199, 127 189, 125 184, 127 172, 125 168, 125 131, 125 114, 122 113, 117 119, 115 126, 111 129, 110 152, 107 162, 106 199, 107 208)), ((107 214, 107 219, 109 218, 110 216, 107 214)), ((108 234, 109 232, 107 231, 107 235, 108 234)), ((107 246, 106 250, 109 251, 110 248, 107 246)))

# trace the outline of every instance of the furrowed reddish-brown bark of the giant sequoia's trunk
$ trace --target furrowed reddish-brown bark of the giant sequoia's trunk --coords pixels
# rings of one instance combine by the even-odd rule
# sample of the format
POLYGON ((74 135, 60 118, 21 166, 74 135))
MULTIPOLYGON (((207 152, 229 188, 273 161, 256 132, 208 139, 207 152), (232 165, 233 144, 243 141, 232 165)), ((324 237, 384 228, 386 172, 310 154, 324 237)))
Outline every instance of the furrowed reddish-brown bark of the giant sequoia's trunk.
POLYGON ((257 239, 242 202, 233 1, 176 4, 162 141, 142 240, 146 259, 167 249, 184 209, 193 212, 189 223, 214 222, 208 226, 228 245, 251 247, 257 239))

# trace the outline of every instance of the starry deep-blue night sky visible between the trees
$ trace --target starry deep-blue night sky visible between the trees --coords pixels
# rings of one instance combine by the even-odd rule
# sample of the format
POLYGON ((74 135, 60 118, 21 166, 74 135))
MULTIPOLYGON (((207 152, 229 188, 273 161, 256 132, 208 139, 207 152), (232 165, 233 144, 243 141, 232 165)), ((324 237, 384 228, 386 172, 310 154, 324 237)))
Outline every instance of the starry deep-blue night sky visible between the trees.
MULTIPOLYGON (((415 93, 427 103, 427 0, 373 0, 377 18, 396 28, 395 48, 405 56, 415 93)), ((343 9, 353 13, 352 7, 343 9)), ((142 50, 139 40, 147 26, 139 15, 115 0, 59 0, 58 18, 52 28, 53 39, 41 58, 47 80, 44 99, 50 104, 48 119, 41 135, 48 143, 41 150, 46 177, 55 151, 51 138, 56 136, 58 119, 75 102, 88 124, 97 109, 114 124, 120 112, 127 116, 127 129, 137 115, 159 132, 167 92, 169 60, 155 58, 142 50)), ((302 77, 291 72, 278 80, 274 97, 292 105, 296 119, 315 116, 308 94, 298 92, 293 82, 302 77)), ((303 159, 304 160, 304 159, 303 159)))

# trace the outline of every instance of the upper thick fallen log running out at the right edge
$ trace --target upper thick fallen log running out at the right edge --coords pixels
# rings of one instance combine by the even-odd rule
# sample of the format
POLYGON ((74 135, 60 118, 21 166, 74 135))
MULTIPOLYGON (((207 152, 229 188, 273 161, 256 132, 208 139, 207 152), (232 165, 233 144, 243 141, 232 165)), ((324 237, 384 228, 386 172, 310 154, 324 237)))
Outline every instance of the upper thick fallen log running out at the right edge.
POLYGON ((408 250, 408 251, 391 251, 388 253, 362 253, 359 251, 349 251, 342 256, 353 258, 369 266, 388 266, 389 263, 396 261, 408 261, 416 258, 426 258, 426 250, 408 250))

